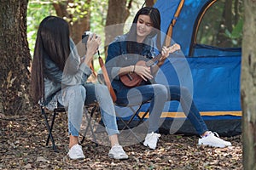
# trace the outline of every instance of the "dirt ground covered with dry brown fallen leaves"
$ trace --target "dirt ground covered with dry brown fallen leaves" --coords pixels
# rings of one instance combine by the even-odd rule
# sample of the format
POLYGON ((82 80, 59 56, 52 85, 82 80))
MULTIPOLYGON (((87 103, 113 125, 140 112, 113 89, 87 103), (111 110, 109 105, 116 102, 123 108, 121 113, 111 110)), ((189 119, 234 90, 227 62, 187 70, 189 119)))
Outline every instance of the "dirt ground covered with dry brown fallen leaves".
POLYGON ((223 138, 232 146, 218 149, 198 146, 197 136, 162 134, 156 150, 125 146, 124 161, 108 158, 110 146, 85 139, 85 159, 73 161, 67 158, 65 114, 56 117, 53 131, 59 152, 45 146, 48 132, 38 108, 20 116, 2 114, 0 126, 0 169, 242 169, 241 136, 223 138))

